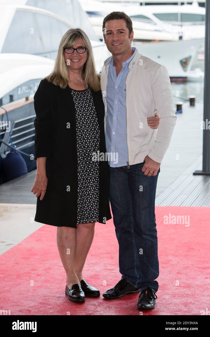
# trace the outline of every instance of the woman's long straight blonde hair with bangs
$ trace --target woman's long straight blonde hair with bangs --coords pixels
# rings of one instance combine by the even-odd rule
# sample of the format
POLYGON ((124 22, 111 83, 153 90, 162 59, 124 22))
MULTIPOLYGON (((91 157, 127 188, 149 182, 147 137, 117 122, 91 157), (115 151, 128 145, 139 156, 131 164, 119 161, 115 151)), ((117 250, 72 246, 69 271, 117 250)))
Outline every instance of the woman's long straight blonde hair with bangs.
POLYGON ((62 89, 67 87, 69 82, 69 73, 68 66, 66 65, 63 55, 63 48, 71 48, 80 38, 84 40, 86 46, 88 47, 86 50, 88 57, 83 66, 82 72, 85 86, 88 87, 89 85, 93 91, 98 91, 101 89, 100 74, 97 74, 95 70, 92 46, 87 34, 80 28, 71 28, 63 35, 59 44, 54 69, 48 76, 45 77, 45 79, 55 85, 59 85, 62 89))

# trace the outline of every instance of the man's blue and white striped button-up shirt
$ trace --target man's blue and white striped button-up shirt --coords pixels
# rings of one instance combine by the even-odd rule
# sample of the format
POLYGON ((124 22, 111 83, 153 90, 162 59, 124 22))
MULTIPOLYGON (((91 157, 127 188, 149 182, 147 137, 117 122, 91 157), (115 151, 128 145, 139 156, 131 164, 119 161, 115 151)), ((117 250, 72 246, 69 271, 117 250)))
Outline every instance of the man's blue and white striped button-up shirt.
POLYGON ((126 101, 125 80, 129 70, 129 63, 137 52, 137 48, 132 47, 134 53, 131 57, 122 63, 118 76, 116 68, 113 65, 113 57, 110 59, 108 71, 108 83, 106 91, 107 101, 107 119, 106 119, 106 148, 108 162, 111 167, 120 167, 127 165, 128 147, 126 131, 126 101), (110 156, 110 157, 109 157, 110 156))

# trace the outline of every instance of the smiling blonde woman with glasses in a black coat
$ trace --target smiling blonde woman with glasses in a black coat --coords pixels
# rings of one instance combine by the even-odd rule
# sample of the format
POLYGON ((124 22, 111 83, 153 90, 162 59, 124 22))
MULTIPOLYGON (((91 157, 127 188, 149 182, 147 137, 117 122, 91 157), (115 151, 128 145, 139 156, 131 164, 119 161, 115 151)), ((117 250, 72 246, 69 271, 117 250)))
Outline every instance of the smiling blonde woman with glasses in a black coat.
POLYGON ((34 95, 35 221, 57 226, 57 245, 72 302, 100 292, 82 276, 95 222, 111 219, 104 105, 91 43, 81 29, 61 39, 53 72, 34 95), (98 152, 99 151, 99 152, 98 152))

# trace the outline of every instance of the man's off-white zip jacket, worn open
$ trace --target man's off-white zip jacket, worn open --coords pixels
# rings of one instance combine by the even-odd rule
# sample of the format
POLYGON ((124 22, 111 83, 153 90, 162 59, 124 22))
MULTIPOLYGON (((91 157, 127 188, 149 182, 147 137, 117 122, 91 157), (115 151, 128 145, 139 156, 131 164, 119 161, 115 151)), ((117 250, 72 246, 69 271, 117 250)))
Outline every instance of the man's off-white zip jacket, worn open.
MULTIPOLYGON (((106 131, 106 89, 110 57, 101 70, 101 92, 105 107, 104 130, 106 131)), ((126 120, 128 166, 144 161, 146 155, 162 162, 176 124, 174 100, 168 70, 136 52, 129 63, 126 77, 126 120), (158 112, 158 129, 151 129, 147 117, 158 112)))

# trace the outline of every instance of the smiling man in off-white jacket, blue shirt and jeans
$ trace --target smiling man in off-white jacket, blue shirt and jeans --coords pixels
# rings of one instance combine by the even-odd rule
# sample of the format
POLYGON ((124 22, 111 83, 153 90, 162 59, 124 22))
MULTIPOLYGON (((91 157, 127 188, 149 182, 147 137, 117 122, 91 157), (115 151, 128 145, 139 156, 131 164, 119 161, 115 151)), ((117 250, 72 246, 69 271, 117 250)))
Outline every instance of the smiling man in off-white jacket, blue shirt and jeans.
POLYGON ((176 124, 173 94, 167 68, 131 47, 132 22, 124 12, 104 18, 103 33, 112 53, 101 71, 101 91, 107 152, 118 158, 109 160, 110 203, 122 274, 103 297, 141 293, 137 308, 153 309, 159 275, 155 193, 176 124), (157 130, 147 124, 156 112, 157 130))

